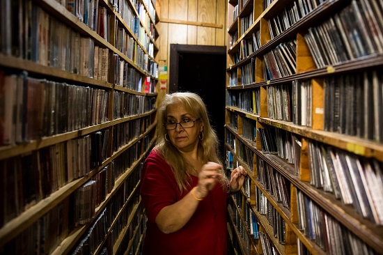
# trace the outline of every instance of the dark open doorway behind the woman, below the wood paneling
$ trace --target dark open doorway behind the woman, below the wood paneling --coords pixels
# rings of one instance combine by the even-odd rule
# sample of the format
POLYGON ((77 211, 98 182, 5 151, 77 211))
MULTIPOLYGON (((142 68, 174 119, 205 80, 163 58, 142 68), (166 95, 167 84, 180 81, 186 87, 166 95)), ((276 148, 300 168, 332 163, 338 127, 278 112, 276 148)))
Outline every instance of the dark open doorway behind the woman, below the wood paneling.
POLYGON ((224 162, 226 47, 171 45, 169 92, 190 91, 201 96, 219 138, 224 162))

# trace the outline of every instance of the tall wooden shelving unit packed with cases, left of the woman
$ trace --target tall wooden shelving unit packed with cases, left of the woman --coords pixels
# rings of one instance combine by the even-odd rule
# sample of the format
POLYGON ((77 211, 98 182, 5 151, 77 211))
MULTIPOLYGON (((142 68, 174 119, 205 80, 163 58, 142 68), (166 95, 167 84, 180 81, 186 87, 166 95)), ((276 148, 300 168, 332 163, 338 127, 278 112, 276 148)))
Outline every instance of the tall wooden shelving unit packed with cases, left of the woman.
POLYGON ((0 253, 139 254, 155 1, 1 4, 0 253))

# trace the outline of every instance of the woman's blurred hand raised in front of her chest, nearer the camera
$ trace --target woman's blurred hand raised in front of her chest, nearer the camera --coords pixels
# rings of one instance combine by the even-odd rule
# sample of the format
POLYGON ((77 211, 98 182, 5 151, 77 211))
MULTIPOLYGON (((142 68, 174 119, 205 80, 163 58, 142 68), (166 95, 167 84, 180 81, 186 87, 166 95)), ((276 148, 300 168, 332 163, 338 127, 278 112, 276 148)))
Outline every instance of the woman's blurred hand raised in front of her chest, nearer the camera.
POLYGON ((208 196, 210 190, 223 178, 221 173, 217 171, 221 168, 220 164, 214 162, 208 162, 202 166, 201 171, 198 173, 198 185, 195 190, 198 198, 204 199, 208 196))

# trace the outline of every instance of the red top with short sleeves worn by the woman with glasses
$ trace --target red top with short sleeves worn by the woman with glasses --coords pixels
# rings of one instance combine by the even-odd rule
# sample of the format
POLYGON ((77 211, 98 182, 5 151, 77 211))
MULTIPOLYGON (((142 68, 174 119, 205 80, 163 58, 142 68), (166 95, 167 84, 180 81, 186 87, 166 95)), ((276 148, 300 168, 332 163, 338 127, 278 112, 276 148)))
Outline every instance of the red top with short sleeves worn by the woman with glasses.
MULTIPOLYGON (((192 187, 198 178, 192 176, 192 187)), ((208 196, 199 202, 198 208, 189 222, 174 233, 159 231, 155 218, 159 211, 184 197, 175 183, 169 164, 152 151, 143 164, 141 177, 141 199, 146 208, 146 237, 143 254, 204 255, 227 254, 226 199, 227 193, 221 185, 216 185, 208 196)))

